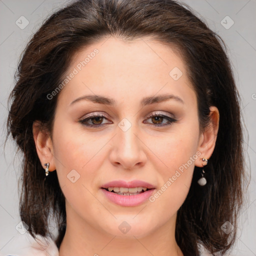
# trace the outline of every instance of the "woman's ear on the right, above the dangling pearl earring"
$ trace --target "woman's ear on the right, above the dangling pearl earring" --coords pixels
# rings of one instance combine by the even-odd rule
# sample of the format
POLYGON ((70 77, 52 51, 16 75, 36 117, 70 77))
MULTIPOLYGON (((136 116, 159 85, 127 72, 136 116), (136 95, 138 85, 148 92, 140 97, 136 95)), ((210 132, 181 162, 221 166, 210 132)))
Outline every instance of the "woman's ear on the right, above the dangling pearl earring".
POLYGON ((210 121, 204 131, 200 134, 197 151, 201 152, 200 157, 195 160, 195 166, 202 167, 200 158, 209 159, 216 143, 218 125, 219 125, 219 112, 217 107, 210 106, 210 121))

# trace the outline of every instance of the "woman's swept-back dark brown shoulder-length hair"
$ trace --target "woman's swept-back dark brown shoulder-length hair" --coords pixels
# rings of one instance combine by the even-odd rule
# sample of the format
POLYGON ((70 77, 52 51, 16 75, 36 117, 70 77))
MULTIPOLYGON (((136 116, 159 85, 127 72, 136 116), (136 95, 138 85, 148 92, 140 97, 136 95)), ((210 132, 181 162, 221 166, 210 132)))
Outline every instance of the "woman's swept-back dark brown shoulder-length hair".
POLYGON ((44 181, 32 136, 32 123, 52 129, 57 96, 47 99, 61 82, 73 54, 103 37, 133 40, 151 36, 177 47, 197 96, 200 127, 207 125, 209 106, 220 114, 215 149, 205 168, 207 184, 197 184, 195 167, 188 195, 177 212, 175 238, 184 255, 198 255, 202 244, 223 255, 233 244, 242 203, 244 162, 239 96, 226 47, 185 4, 173 0, 78 0, 53 13, 27 44, 16 72, 7 125, 23 152, 20 216, 31 235, 50 235, 52 211, 59 247, 65 232, 65 201, 56 172, 44 181), (222 46, 221 46, 222 45, 222 46), (229 234, 221 225, 229 221, 229 234))

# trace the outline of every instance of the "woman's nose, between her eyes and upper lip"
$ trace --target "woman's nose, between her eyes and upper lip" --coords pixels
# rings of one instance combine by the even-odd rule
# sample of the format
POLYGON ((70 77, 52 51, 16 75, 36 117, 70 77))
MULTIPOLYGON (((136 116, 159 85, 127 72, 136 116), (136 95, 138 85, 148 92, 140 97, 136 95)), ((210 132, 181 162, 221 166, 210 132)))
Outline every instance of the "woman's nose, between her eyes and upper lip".
MULTIPOLYGON (((125 123, 125 125, 128 124, 125 123)), ((147 159, 144 151, 146 146, 139 137, 135 125, 131 125, 128 129, 118 125, 116 133, 109 154, 110 162, 115 166, 121 166, 123 169, 134 169, 143 166, 147 159)))

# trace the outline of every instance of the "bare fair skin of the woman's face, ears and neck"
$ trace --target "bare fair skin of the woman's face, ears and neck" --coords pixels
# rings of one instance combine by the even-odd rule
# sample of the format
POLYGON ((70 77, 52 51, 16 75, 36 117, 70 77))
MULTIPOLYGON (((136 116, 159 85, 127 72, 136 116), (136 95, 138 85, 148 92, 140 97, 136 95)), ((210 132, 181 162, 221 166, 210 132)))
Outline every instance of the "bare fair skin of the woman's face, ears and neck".
POLYGON ((182 59, 170 46, 147 38, 102 39, 77 52, 67 74, 95 48, 95 57, 57 95, 51 136, 38 122, 33 124, 41 164, 49 162, 49 170, 57 171, 66 199, 59 255, 183 255, 174 237, 176 212, 188 193, 194 165, 203 166, 200 158, 209 159, 213 152, 218 110, 210 107, 210 123, 200 132, 196 95, 182 59), (183 73, 177 80, 169 75, 174 67, 183 73), (143 97, 165 93, 183 103, 169 99, 141 108, 143 97), (111 97, 116 105, 88 100, 70 104, 87 94, 111 97), (168 120, 148 118, 154 111, 176 121, 157 127, 168 120), (105 118, 90 119, 90 124, 104 124, 93 128, 79 122, 91 112, 105 118), (131 124, 126 131, 118 126, 123 118, 131 124), (200 156, 154 202, 120 206, 100 189, 111 180, 139 179, 159 190, 196 152, 200 156), (67 178, 72 169, 80 175, 74 183, 67 178), (131 227, 125 234, 118 228, 123 221, 131 227))

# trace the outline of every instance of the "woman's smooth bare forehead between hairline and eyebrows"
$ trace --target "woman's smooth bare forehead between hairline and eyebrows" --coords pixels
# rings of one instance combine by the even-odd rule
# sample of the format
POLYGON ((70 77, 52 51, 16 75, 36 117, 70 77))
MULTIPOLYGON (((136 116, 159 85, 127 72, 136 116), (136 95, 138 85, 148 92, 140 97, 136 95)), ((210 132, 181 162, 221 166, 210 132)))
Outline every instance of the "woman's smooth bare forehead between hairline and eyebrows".
POLYGON ((118 95, 119 100, 175 92, 194 100, 186 66, 174 50, 147 38, 102 39, 74 54, 66 75, 75 74, 63 92, 73 99, 89 92, 111 98, 118 95))

